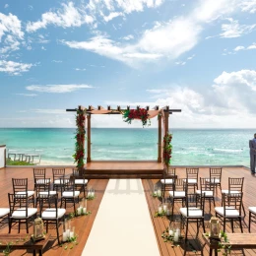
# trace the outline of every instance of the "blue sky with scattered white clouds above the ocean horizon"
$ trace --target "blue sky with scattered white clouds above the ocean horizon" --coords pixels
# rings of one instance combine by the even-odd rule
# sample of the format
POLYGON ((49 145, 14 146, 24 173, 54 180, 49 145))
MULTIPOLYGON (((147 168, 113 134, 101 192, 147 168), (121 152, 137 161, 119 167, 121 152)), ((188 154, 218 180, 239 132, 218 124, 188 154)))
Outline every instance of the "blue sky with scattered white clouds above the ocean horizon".
POLYGON ((74 127, 66 108, 110 104, 182 109, 174 128, 254 128, 255 35, 256 0, 3 0, 0 127, 74 127))

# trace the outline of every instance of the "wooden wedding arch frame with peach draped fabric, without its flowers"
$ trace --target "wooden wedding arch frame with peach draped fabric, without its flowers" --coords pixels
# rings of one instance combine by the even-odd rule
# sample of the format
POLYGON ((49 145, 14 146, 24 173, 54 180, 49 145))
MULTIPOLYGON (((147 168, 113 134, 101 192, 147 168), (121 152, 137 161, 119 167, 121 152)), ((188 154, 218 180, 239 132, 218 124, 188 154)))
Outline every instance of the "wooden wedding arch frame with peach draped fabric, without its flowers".
MULTIPOLYGON (((140 106, 137 106, 137 109, 141 108, 140 106)), ((158 162, 162 161, 161 151, 162 151, 162 130, 163 130, 163 136, 166 135, 168 132, 168 119, 169 114, 172 114, 173 112, 181 112, 181 109, 170 109, 168 105, 160 108, 159 105, 155 106, 153 109, 150 109, 149 106, 145 107, 148 110, 149 118, 158 117, 159 119, 159 137, 158 137, 158 162)), ((122 114, 125 110, 130 110, 130 106, 127 105, 126 108, 121 108, 119 105, 116 108, 112 108, 110 105, 107 106, 107 108, 104 108, 100 105, 97 107, 94 107, 92 105, 89 105, 88 108, 79 105, 78 108, 75 109, 66 109, 66 111, 77 111, 77 110, 83 110, 84 115, 86 117, 86 126, 87 126, 87 162, 91 162, 91 115, 92 114, 122 114)), ((135 108, 136 109, 136 108, 135 108)))

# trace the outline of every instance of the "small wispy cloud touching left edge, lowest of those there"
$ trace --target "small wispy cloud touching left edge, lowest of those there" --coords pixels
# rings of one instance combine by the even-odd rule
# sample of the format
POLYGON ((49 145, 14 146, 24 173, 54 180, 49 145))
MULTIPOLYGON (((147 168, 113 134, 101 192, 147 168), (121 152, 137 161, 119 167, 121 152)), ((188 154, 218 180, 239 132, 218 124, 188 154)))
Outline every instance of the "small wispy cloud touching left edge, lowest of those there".
POLYGON ((20 75, 24 72, 28 72, 32 68, 32 66, 32 64, 27 63, 0 60, 0 72, 5 72, 14 76, 20 75))

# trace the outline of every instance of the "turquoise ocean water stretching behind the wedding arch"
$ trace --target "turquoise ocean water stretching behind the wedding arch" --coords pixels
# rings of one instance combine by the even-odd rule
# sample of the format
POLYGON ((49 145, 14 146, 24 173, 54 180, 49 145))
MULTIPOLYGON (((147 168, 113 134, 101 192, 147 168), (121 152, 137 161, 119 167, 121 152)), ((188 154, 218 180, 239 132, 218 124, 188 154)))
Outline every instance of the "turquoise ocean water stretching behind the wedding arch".
MULTIPOLYGON (((253 129, 172 129, 173 165, 249 166, 253 129)), ((73 164, 75 128, 2 128, 8 153, 41 156, 40 164, 73 164)), ((92 160, 157 160, 158 129, 92 129, 92 160)))

